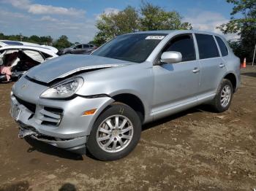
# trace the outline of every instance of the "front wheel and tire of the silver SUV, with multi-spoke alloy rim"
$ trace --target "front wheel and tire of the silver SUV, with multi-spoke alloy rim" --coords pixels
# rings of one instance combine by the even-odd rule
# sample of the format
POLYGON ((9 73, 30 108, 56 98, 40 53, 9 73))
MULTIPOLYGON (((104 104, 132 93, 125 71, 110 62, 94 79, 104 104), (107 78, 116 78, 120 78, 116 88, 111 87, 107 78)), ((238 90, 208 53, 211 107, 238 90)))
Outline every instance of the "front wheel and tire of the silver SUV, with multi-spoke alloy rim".
POLYGON ((94 122, 86 147, 98 160, 118 160, 132 152, 140 133, 141 122, 135 110, 126 104, 113 103, 94 122))

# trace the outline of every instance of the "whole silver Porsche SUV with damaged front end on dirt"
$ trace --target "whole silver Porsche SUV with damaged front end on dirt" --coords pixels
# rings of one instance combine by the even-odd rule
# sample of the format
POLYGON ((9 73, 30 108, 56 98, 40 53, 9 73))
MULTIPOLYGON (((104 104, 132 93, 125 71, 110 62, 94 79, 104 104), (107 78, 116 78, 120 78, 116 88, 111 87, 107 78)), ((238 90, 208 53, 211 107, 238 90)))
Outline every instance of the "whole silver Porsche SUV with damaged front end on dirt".
POLYGON ((138 32, 29 70, 12 87, 11 114, 20 138, 117 160, 142 124, 199 104, 224 112, 239 85, 239 59, 222 36, 138 32))

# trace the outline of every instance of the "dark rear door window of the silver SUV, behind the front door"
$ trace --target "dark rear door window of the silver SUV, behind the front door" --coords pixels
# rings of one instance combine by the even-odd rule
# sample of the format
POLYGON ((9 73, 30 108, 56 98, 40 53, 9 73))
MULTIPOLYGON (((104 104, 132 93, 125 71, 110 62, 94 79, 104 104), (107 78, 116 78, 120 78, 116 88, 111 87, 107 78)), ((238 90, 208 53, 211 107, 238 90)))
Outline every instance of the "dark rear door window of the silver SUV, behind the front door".
POLYGON ((195 37, 197 39, 200 59, 219 57, 219 51, 214 36, 208 34, 195 34, 195 37))

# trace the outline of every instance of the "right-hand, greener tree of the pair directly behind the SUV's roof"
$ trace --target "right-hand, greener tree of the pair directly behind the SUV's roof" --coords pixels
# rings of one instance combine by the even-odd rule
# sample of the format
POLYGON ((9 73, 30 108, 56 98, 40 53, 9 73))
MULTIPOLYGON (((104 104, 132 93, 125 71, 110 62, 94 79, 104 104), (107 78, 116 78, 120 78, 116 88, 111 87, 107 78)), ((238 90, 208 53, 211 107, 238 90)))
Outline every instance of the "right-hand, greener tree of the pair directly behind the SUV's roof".
POLYGON ((190 23, 182 23, 176 11, 165 11, 159 6, 144 2, 140 7, 140 27, 142 31, 192 29, 190 23))

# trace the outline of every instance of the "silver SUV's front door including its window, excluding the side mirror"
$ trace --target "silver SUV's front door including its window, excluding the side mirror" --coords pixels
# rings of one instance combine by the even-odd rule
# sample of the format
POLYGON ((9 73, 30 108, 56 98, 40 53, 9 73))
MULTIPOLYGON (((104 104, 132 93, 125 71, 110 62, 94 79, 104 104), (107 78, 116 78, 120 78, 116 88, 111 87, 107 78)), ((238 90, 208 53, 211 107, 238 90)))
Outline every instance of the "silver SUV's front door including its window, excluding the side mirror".
POLYGON ((167 51, 181 52, 182 61, 180 63, 162 63, 153 66, 153 113, 197 100, 200 68, 196 60, 192 34, 174 36, 159 55, 167 51))

